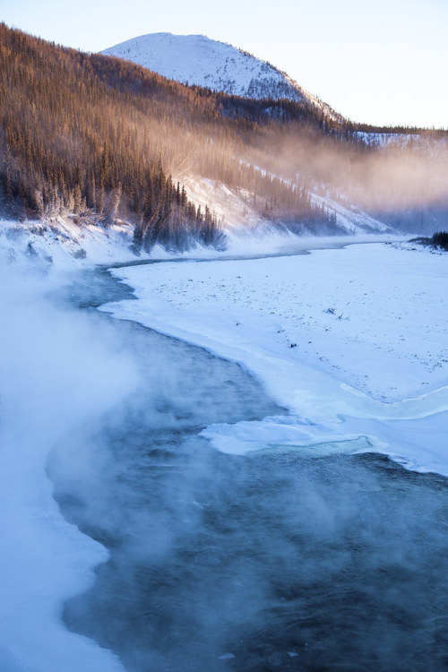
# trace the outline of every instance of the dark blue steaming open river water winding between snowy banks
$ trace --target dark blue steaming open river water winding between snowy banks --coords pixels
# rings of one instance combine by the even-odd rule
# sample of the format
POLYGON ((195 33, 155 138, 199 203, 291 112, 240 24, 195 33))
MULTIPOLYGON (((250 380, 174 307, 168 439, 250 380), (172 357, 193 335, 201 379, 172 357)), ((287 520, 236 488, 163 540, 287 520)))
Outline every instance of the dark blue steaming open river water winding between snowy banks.
POLYGON ((215 451, 205 426, 286 411, 240 366, 95 310, 129 295, 101 270, 70 291, 140 383, 48 464, 110 552, 65 625, 129 672, 447 669, 447 480, 373 453, 215 451))

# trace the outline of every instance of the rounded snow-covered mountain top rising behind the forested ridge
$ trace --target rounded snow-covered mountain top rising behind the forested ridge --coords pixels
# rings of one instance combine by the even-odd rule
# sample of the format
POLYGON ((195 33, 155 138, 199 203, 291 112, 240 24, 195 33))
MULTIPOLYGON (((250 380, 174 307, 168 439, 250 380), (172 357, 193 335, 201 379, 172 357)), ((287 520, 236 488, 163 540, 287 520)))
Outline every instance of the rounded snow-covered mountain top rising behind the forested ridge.
POLYGON ((308 102, 334 120, 341 117, 273 65, 204 35, 151 33, 101 52, 149 68, 168 79, 254 99, 308 102))

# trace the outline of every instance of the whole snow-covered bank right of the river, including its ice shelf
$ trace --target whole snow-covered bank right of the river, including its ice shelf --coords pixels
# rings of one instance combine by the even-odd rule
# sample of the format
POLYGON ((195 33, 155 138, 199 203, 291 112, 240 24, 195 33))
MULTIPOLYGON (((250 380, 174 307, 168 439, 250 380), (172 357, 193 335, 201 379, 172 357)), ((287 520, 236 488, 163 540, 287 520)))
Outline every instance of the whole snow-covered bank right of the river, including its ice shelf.
MULTIPOLYGON (((373 447, 448 473, 444 254, 375 244, 114 272, 139 300, 106 310, 237 360, 292 410, 296 420, 288 431, 280 423, 279 443, 362 435, 350 450, 373 447)), ((232 438, 224 427, 209 435, 244 452, 263 444, 264 428, 245 429, 244 439, 237 427, 232 438)), ((272 442, 272 426, 268 435, 272 442)))

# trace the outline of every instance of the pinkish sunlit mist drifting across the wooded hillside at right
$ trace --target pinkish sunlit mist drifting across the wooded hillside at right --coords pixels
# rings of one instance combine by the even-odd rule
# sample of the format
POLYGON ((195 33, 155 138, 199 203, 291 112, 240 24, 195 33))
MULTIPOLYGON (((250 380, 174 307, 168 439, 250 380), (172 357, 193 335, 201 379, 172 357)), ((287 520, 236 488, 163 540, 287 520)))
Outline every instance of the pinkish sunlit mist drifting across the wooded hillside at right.
MULTIPOLYGON (((246 198, 247 208, 258 217, 273 223, 306 223, 309 202, 297 198, 302 190, 311 194, 312 204, 314 196, 323 198, 326 214, 340 203, 407 232, 443 228, 448 211, 443 132, 323 134, 296 123, 266 122, 244 139, 221 136, 215 129, 213 142, 200 153, 192 147, 186 151, 185 144, 185 156, 190 159, 182 169, 167 159, 177 179, 187 185, 192 178, 218 180, 246 198)), ((213 207, 213 194, 209 199, 213 207)), ((310 223, 313 233, 328 233, 318 213, 310 223)))

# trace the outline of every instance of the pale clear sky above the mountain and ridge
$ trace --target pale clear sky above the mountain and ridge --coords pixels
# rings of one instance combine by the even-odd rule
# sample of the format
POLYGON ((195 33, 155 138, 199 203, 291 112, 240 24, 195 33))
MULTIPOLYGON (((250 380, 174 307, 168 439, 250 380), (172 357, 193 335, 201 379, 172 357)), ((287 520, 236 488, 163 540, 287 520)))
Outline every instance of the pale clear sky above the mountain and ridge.
POLYGON ((0 0, 0 19, 85 51, 200 33, 269 61, 354 121, 448 127, 448 0, 0 0))

